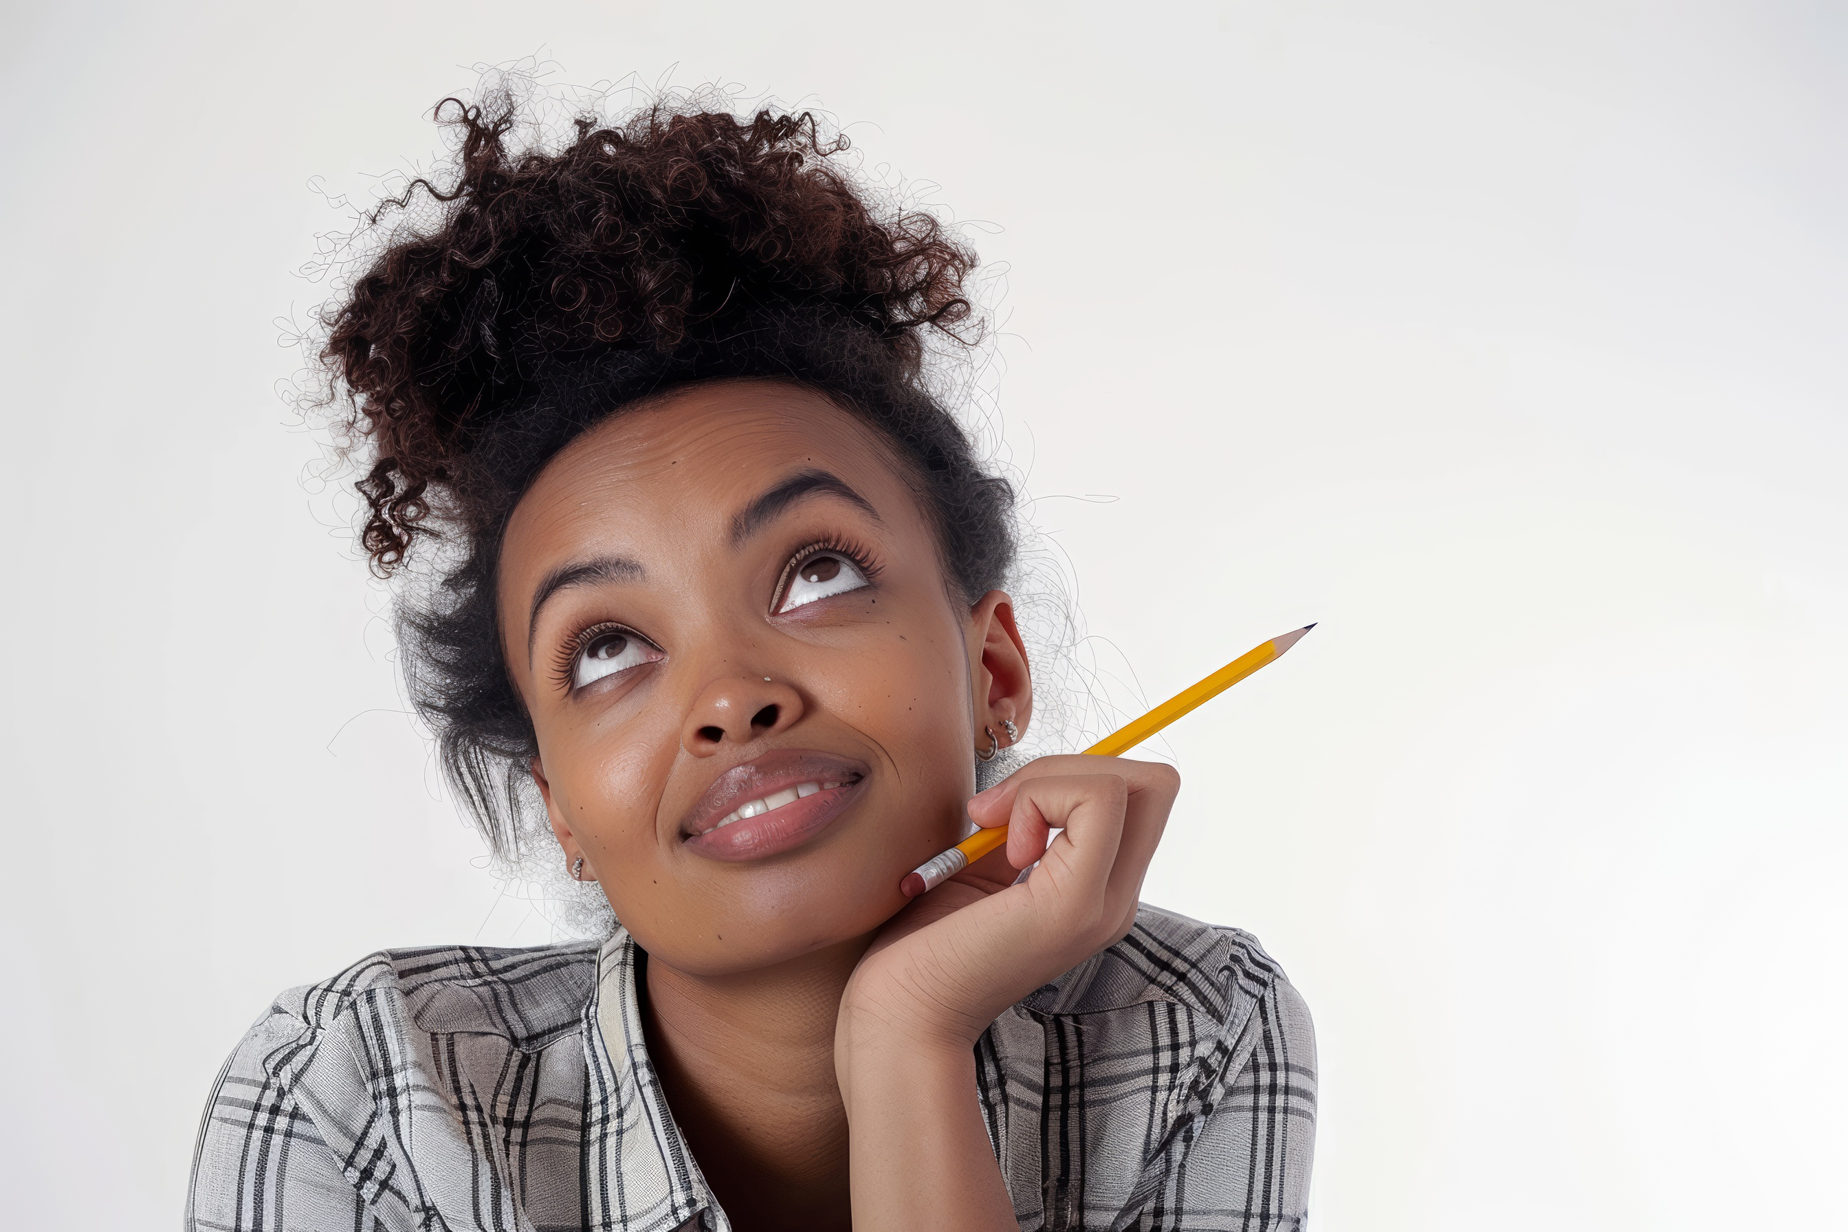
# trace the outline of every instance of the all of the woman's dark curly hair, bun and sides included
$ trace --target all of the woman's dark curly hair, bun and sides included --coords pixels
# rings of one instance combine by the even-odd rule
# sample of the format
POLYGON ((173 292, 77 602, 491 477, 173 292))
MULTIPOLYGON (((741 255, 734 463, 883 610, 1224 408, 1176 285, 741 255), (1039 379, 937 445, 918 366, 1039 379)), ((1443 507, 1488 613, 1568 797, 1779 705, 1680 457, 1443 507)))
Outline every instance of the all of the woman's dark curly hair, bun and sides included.
POLYGON ((1013 489, 978 462, 926 379, 926 334, 978 334, 974 253, 918 211, 874 209, 811 113, 737 118, 650 103, 514 140, 519 107, 449 98, 451 174, 322 310, 322 364, 359 441, 360 543, 392 574, 445 543, 434 586, 397 597, 412 704, 445 778, 503 861, 521 855, 532 722, 495 615, 506 519, 545 464, 612 414, 695 380, 804 384, 891 443, 937 532, 950 589, 1000 586, 1013 489))

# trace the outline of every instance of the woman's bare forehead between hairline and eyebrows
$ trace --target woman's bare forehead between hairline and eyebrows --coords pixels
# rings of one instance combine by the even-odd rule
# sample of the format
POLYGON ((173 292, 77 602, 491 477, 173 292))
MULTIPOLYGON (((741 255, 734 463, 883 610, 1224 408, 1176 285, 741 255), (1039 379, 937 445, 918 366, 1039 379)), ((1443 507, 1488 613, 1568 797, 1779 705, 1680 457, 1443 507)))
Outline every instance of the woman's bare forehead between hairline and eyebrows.
POLYGON ((630 550, 710 539, 798 469, 833 473, 881 519, 918 517, 885 443, 821 393, 769 380, 691 386, 614 416, 545 465, 508 521, 503 587, 519 593, 612 536, 630 550))

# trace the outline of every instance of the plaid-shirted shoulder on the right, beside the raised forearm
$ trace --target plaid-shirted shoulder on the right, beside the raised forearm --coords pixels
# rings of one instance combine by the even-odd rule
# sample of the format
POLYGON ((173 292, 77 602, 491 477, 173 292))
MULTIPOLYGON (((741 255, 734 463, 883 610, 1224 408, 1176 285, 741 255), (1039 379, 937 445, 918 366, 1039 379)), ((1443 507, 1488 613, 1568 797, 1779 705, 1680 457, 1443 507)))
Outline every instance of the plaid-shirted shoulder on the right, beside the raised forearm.
POLYGON ((1022 1226, 1120 1228, 1138 1212, 1301 1226, 1314 1029, 1242 929, 1144 905, 1120 942, 989 1027, 976 1079, 1022 1226))

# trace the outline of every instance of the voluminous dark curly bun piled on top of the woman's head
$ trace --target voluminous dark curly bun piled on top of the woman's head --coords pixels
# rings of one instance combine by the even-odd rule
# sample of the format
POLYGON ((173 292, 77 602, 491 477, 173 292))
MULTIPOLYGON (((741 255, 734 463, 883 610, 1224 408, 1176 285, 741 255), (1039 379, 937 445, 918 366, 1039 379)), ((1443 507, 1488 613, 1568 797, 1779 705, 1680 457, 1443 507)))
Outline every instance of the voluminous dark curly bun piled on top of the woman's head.
POLYGON ((652 103, 577 120, 558 150, 512 140, 508 91, 456 98, 451 175, 414 179, 351 292, 323 308, 322 358, 375 458, 359 484, 381 569, 427 491, 547 368, 608 351, 693 356, 789 312, 848 323, 917 375, 920 327, 968 321, 974 255, 935 216, 876 216, 813 113, 750 118, 652 103), (432 225, 407 225, 429 207, 432 225))

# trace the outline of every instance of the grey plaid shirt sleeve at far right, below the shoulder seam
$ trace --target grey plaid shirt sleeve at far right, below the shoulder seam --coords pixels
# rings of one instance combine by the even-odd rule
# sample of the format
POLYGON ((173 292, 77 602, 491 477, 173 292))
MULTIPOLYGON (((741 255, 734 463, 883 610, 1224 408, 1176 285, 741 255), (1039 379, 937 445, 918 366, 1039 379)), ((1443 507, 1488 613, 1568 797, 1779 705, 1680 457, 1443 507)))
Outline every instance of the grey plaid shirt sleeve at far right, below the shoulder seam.
POLYGON ((1275 979, 1246 1020, 1246 1055, 1131 1226, 1299 1232, 1316 1151, 1316 1029, 1301 994, 1275 979))

